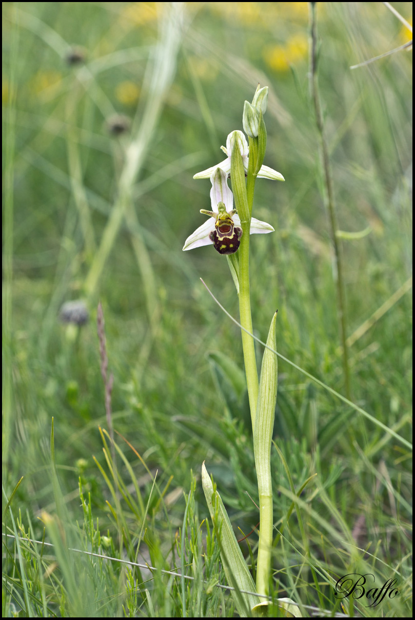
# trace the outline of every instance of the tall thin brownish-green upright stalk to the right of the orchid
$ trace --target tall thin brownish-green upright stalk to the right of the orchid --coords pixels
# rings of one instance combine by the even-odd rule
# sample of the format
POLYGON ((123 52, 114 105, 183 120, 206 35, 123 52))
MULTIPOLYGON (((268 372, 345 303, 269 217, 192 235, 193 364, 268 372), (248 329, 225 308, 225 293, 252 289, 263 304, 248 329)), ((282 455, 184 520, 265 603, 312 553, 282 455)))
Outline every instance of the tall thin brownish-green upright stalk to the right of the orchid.
POLYGON ((349 348, 347 346, 346 336, 346 294, 344 287, 344 262, 342 259, 342 247, 341 242, 337 237, 337 215, 336 205, 334 203, 334 188, 331 174, 329 148, 326 138, 326 131, 324 129, 323 112, 321 110, 321 100, 318 86, 318 74, 317 74, 317 9, 316 2, 310 2, 310 86, 311 86, 311 98, 315 108, 316 126, 319 133, 319 139, 321 143, 321 159, 324 171, 324 184, 326 186, 326 208, 329 217, 329 227, 331 243, 334 252, 334 260, 336 270, 334 273, 334 280, 336 283, 337 293, 337 314, 339 317, 339 332, 340 342, 342 347, 342 360, 343 360, 343 374, 344 374, 344 387, 346 391, 346 397, 350 400, 350 367, 349 367, 349 348))

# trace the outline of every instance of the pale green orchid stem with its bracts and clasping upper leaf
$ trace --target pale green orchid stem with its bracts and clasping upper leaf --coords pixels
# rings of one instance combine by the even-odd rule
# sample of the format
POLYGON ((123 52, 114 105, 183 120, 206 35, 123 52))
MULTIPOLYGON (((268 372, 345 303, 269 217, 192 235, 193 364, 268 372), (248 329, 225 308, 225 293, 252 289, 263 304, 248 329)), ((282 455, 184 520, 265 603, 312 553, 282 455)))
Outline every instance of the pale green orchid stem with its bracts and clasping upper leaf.
MULTIPOLYGON (((241 220, 243 234, 239 246, 238 285, 239 317, 242 327, 246 383, 248 386, 249 407, 251 409, 252 431, 254 435, 254 456, 259 495, 259 550, 257 558, 257 593, 267 595, 272 549, 272 483, 270 471, 270 451, 272 427, 274 426, 275 399, 277 396, 277 366, 274 353, 266 349, 262 358, 261 381, 258 371, 252 338, 251 296, 249 291, 249 232, 251 228, 252 204, 256 177, 264 160, 267 132, 259 116, 258 136, 249 138, 248 176, 241 156, 238 135, 233 136, 231 153, 231 184, 236 209, 241 220)), ((275 349, 275 319, 269 332, 270 349, 275 349)))

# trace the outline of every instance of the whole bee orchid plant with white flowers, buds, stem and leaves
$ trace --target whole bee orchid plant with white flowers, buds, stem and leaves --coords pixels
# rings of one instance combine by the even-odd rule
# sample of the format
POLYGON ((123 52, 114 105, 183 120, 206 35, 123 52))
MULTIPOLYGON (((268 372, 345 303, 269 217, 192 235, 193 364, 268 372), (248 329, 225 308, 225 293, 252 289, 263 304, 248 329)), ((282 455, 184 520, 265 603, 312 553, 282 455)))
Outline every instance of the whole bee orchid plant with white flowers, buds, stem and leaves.
MULTIPOLYGON (((264 166, 267 133, 264 113, 268 88, 257 87, 252 104, 244 104, 243 128, 228 135, 226 159, 216 166, 202 170, 194 179, 210 179, 212 210, 200 210, 208 216, 185 241, 184 250, 212 244, 219 254, 226 255, 239 298, 239 320, 243 343, 244 365, 248 386, 249 407, 254 435, 254 458, 259 494, 259 544, 254 583, 241 549, 233 534, 230 520, 220 495, 202 465, 202 485, 210 516, 220 541, 221 559, 229 585, 233 586, 236 608, 240 616, 256 613, 259 606, 269 604, 272 549, 272 479, 270 451, 277 398, 277 356, 275 355, 275 322, 272 318, 267 348, 264 352, 261 375, 258 378, 254 340, 252 338, 251 298, 249 293, 249 236, 273 232, 271 224, 252 218, 254 187, 257 178, 280 180, 280 172, 264 166), (231 188, 228 185, 230 178, 231 188), (258 596, 259 595, 259 596, 258 596), (261 598, 265 597, 265 598, 261 598)), ((279 599, 279 605, 296 617, 301 617, 297 605, 290 599, 279 599)))

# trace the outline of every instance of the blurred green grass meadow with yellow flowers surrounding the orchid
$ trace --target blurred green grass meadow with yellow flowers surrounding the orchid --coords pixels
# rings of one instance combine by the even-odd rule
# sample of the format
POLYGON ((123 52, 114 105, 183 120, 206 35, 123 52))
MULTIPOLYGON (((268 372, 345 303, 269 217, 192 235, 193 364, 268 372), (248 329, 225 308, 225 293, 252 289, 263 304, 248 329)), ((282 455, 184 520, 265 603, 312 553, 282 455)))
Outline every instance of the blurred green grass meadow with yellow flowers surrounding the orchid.
POLYGON ((272 600, 412 617, 412 51, 350 69, 412 35, 382 2, 316 11, 349 389, 308 3, 3 3, 3 616, 238 616, 200 471, 237 538, 254 530, 254 576, 248 394, 240 329, 200 278, 236 320, 238 297, 224 256, 182 247, 210 209, 192 177, 260 83, 285 177, 257 182, 275 232, 250 254, 254 335, 278 309, 285 358, 272 600), (76 300, 89 319, 65 322, 76 300), (350 573, 360 598, 336 591, 350 573))

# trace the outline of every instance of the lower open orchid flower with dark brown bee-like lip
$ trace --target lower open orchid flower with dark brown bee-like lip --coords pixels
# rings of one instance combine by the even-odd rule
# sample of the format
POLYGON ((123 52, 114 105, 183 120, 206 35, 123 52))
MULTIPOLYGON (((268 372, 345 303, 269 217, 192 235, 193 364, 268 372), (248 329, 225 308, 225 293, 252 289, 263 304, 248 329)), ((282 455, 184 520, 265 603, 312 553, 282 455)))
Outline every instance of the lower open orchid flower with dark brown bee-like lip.
MULTIPOLYGON (((209 219, 187 237, 183 249, 193 250, 195 247, 213 244, 220 254, 233 254, 238 250, 242 236, 241 220, 233 208, 233 193, 228 187, 226 170, 220 166, 212 170, 213 174, 210 176, 212 211, 200 210, 200 213, 208 215, 209 219)), ((270 224, 251 218, 251 234, 266 234, 273 231, 274 228, 270 224)))

